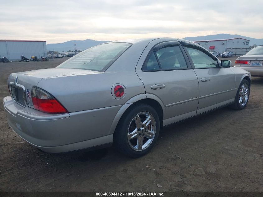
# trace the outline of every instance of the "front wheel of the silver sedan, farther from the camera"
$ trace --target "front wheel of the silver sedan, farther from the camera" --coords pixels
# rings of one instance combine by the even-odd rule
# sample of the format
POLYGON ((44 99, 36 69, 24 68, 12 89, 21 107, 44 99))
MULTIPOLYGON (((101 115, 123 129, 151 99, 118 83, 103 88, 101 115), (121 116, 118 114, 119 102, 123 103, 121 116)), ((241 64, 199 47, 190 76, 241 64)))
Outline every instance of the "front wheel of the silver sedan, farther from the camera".
POLYGON ((247 106, 249 95, 250 83, 246 79, 243 79, 238 87, 237 94, 235 96, 235 101, 231 105, 231 108, 235 110, 244 109, 247 106))

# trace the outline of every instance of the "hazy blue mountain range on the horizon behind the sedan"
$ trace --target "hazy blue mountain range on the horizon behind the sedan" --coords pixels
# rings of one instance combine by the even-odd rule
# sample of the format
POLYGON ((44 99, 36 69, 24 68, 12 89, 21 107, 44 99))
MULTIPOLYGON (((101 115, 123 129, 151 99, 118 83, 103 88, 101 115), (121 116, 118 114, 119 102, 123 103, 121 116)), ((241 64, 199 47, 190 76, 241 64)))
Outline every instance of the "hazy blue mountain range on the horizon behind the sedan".
MULTIPOLYGON (((196 36, 196 37, 185 37, 183 39, 190 40, 190 41, 198 41, 198 40, 218 40, 218 39, 229 39, 229 38, 244 38, 247 40, 250 40, 250 45, 253 46, 256 45, 263 45, 263 39, 256 39, 256 38, 250 38, 247 36, 237 35, 237 34, 216 34, 216 35, 207 35, 207 36, 196 36)), ((55 51, 74 51, 77 50, 85 50, 92 46, 99 45, 105 42, 110 41, 99 41, 99 40, 70 40, 63 43, 56 43, 56 44, 47 44, 47 51, 49 50, 55 50, 55 51), (76 45, 75 45, 76 44, 76 45)))

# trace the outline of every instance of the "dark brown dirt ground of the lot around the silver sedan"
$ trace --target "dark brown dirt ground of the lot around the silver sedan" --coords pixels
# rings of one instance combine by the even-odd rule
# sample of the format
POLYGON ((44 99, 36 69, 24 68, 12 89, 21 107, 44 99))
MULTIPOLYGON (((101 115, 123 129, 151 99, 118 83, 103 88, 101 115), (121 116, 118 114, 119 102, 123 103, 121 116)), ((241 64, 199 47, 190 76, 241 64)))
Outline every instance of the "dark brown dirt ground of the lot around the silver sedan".
MULTIPOLYGON (((64 60, 0 63, 1 102, 10 73, 64 60)), ((1 104, 0 191, 263 191, 262 96, 263 77, 253 77, 245 110, 226 107, 164 127, 153 150, 138 159, 114 148, 40 152, 9 128, 1 104)))

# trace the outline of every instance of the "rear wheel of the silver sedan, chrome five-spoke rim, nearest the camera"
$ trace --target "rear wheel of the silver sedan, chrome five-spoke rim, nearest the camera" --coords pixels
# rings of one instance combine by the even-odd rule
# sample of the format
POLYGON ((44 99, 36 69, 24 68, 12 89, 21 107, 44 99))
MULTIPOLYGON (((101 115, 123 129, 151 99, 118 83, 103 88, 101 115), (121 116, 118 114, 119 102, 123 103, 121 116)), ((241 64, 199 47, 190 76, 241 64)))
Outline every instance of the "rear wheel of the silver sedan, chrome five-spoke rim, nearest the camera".
POLYGON ((118 151, 129 157, 141 157, 156 143, 160 119, 152 106, 138 104, 125 111, 114 133, 118 151))

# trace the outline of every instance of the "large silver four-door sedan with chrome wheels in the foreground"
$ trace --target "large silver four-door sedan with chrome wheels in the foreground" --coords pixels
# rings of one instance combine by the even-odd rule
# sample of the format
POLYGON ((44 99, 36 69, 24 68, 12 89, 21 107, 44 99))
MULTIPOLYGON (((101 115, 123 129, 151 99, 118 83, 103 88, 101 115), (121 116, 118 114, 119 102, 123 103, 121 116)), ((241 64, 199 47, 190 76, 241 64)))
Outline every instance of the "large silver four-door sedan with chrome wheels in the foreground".
POLYGON ((56 68, 10 74, 11 96, 3 104, 11 128, 45 152, 114 142, 140 157, 162 126, 227 105, 244 109, 250 84, 249 72, 194 42, 124 40, 89 48, 56 68))

